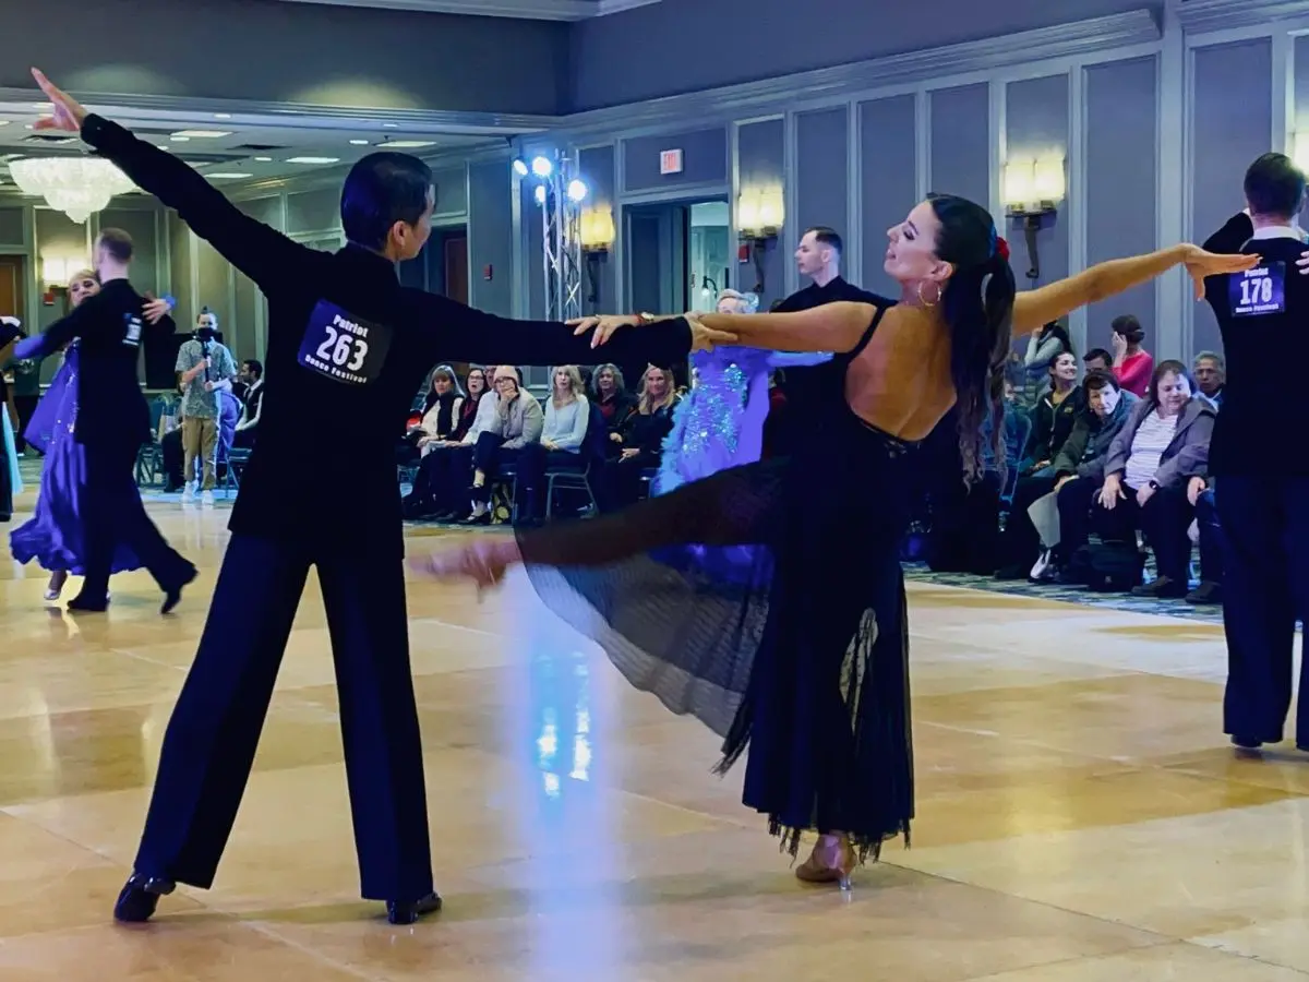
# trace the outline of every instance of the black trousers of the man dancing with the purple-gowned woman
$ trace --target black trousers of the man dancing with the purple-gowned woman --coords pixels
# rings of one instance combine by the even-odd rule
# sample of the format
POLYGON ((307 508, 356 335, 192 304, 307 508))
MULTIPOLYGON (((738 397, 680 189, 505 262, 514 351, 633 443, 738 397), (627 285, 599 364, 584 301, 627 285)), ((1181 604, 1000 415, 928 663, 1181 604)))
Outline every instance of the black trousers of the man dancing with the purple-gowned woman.
POLYGON ((140 446, 85 444, 86 509, 82 537, 86 543, 86 576, 81 597, 103 602, 118 543, 126 545, 149 570, 160 589, 169 592, 190 580, 195 567, 160 534, 145 513, 134 471, 140 446))

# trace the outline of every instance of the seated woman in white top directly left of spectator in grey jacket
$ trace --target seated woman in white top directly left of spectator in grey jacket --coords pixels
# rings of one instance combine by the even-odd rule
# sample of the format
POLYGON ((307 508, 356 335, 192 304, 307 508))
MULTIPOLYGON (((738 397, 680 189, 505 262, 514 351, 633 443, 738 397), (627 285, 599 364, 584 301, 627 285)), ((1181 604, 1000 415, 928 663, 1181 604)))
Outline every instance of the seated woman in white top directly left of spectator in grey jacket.
POLYGON ((483 398, 490 388, 487 380, 493 374, 495 365, 469 368, 463 380, 466 395, 459 403, 454 431, 449 439, 428 443, 423 448, 414 487, 404 498, 406 517, 450 521, 467 515, 473 446, 491 423, 496 402, 495 395, 483 398))

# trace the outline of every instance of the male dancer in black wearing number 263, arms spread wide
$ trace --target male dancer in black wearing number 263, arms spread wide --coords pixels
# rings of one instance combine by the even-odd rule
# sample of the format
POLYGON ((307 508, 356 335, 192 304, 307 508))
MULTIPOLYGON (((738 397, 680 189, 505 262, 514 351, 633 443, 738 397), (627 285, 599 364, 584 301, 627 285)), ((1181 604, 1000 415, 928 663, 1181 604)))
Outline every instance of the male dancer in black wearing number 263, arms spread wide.
MULTIPOLYGON (((169 721, 135 872, 119 920, 145 920, 175 882, 208 888, 232 831, 292 621, 315 566, 340 690, 346 775, 365 898, 393 923, 437 910, 423 746, 410 674, 394 443, 440 360, 594 361, 563 323, 511 321, 402 287, 395 264, 431 230, 428 166, 373 153, 342 191, 348 245, 292 242, 242 213, 177 157, 137 140, 34 72, 54 105, 42 128, 80 132, 268 299, 268 390, 259 443, 232 511, 232 539, 191 672, 169 721), (306 406, 336 407, 327 444, 306 440, 306 406), (315 475, 330 494, 297 492, 315 475)), ((614 361, 669 365, 692 339, 726 340, 685 318, 623 331, 614 361)))

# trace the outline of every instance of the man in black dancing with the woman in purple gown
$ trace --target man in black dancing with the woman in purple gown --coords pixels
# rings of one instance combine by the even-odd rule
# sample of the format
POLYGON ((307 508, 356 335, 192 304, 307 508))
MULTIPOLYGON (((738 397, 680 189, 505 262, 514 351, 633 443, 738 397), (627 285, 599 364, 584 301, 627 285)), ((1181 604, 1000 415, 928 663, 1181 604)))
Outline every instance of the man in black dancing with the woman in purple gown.
POLYGON ((127 279, 132 238, 103 229, 96 238, 96 272, 101 289, 45 334, 18 343, 14 356, 46 357, 80 338, 79 405, 73 437, 86 452, 86 576, 69 610, 103 611, 115 542, 123 541, 164 591, 166 614, 195 579, 195 567, 164 541, 141 504, 132 470, 141 444, 151 440, 151 410, 136 367, 147 331, 173 334, 173 318, 147 325, 145 300, 127 279))

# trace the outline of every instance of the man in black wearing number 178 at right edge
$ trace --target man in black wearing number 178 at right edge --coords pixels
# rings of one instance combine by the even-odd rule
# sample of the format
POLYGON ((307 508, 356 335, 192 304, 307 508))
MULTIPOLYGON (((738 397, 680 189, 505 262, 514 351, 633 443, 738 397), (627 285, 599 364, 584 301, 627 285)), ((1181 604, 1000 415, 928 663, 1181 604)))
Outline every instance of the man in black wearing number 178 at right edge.
MULTIPOLYGON (((1283 738, 1291 707, 1296 619, 1309 622, 1309 454, 1288 435, 1309 432, 1295 386, 1268 385, 1268 352, 1309 355, 1309 279, 1296 216, 1305 175, 1266 153, 1245 175, 1247 209, 1206 249, 1258 253, 1246 272, 1215 276, 1204 293, 1223 331, 1228 384, 1213 426, 1210 474, 1223 525, 1223 626, 1228 640, 1224 731, 1244 750, 1283 738)), ((1309 750, 1309 660, 1300 669, 1296 746, 1309 750)))

